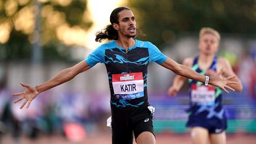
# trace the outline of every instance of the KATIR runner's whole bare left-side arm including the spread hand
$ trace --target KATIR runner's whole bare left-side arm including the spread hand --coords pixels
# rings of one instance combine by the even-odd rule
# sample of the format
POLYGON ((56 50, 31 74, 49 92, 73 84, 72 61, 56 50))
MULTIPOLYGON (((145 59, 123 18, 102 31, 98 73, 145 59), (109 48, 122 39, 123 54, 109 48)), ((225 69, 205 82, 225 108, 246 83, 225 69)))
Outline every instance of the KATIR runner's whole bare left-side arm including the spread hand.
POLYGON ((36 96, 39 95, 39 93, 49 90, 50 88, 56 87, 58 85, 61 85, 62 83, 71 80, 76 75, 88 69, 90 69, 90 66, 85 61, 81 61, 73 67, 69 67, 68 69, 62 70, 55 77, 36 87, 20 82, 20 85, 22 85, 22 87, 25 87, 26 89, 23 92, 12 94, 13 96, 22 96, 19 99, 15 100, 14 103, 17 103, 25 99, 22 105, 20 106, 20 109, 22 109, 23 106, 25 106, 25 104, 27 103, 28 104, 26 108, 28 108, 32 100, 34 100, 36 96))

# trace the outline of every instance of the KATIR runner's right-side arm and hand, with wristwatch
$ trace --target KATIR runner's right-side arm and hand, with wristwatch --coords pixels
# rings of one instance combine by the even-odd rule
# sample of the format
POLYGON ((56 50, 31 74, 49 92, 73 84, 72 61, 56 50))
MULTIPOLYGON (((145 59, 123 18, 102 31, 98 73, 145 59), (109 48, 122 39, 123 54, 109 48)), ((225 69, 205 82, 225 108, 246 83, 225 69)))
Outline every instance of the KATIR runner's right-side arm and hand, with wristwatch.
MULTIPOLYGON (((177 75, 181 75, 182 77, 190 78, 205 83, 205 75, 198 74, 189 67, 182 64, 178 64, 176 61, 173 61, 173 59, 170 59, 169 57, 167 57, 166 61, 164 61, 163 64, 161 64, 161 66, 165 67, 166 69, 172 70, 177 75)), ((229 93, 229 91, 226 90, 226 88, 234 91, 234 89, 229 87, 228 84, 236 84, 237 82, 234 82, 232 80, 233 78, 236 78, 236 76, 222 77, 222 74, 223 70, 218 72, 213 77, 210 77, 209 83, 211 85, 215 85, 216 87, 220 87, 226 93, 229 93)))

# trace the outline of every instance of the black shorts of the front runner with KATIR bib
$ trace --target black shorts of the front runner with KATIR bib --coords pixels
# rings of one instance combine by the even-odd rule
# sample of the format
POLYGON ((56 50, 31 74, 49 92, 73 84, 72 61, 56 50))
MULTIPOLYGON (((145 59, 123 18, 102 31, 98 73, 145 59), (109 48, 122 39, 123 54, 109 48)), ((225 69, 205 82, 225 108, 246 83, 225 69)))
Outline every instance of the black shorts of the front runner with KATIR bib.
POLYGON ((153 133, 151 111, 146 106, 137 109, 123 110, 111 108, 112 143, 132 144, 142 132, 153 133))

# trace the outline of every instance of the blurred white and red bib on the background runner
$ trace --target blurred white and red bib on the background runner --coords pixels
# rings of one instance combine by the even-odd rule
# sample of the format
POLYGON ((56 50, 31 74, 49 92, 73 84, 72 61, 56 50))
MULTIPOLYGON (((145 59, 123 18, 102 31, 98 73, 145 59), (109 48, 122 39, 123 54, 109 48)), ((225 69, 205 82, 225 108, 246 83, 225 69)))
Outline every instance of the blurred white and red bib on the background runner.
POLYGON ((210 104, 215 101, 215 88, 204 85, 192 85, 191 101, 193 103, 210 104))

